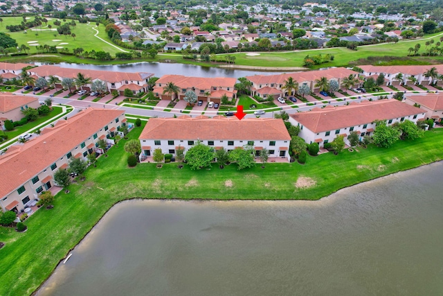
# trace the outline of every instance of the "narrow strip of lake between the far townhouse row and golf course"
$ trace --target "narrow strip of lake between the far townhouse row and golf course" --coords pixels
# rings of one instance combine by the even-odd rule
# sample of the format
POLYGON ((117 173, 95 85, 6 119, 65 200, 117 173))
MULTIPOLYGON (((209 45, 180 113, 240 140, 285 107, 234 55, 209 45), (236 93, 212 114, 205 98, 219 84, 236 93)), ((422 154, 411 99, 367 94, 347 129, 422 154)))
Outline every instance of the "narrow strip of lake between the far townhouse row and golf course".
MULTIPOLYGON (((40 63, 35 63, 40 64, 40 63)), ((148 72, 154 73, 156 77, 161 77, 168 74, 177 74, 184 76, 195 77, 230 77, 240 78, 251 75, 271 75, 282 72, 269 72, 269 71, 246 71, 239 69, 224 69, 217 67, 201 67, 194 64, 176 64, 176 63, 160 63, 160 62, 140 62, 134 64, 69 64, 62 62, 55 64, 56 66, 73 68, 73 69, 91 69, 102 71, 114 71, 114 72, 148 72)))

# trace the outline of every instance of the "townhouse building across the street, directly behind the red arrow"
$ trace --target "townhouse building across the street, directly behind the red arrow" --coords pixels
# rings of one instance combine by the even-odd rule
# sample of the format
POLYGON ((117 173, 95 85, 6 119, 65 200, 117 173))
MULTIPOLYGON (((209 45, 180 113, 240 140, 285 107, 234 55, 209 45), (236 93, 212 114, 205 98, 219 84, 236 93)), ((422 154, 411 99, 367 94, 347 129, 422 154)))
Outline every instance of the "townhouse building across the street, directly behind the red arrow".
POLYGON ((235 78, 204 78, 182 75, 165 75, 156 81, 154 94, 162 100, 171 100, 172 98, 177 98, 177 96, 180 100, 183 100, 186 92, 192 91, 195 92, 198 100, 221 103, 221 97, 224 95, 228 96, 229 99, 235 98, 237 95, 237 90, 234 89, 236 81, 235 78), (170 82, 179 87, 179 94, 163 94, 166 85, 170 82))

